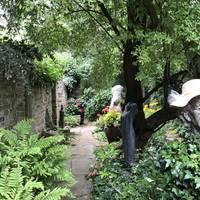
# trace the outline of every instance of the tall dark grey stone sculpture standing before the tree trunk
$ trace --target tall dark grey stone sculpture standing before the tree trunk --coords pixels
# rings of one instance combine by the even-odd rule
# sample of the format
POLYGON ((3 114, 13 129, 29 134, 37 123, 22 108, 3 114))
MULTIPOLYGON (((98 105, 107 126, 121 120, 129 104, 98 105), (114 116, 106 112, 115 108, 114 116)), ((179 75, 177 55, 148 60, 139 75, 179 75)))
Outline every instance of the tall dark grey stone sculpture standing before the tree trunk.
POLYGON ((128 103, 121 119, 121 132, 124 150, 125 163, 132 165, 135 161, 136 146, 135 146, 135 130, 133 122, 138 113, 137 104, 128 103))

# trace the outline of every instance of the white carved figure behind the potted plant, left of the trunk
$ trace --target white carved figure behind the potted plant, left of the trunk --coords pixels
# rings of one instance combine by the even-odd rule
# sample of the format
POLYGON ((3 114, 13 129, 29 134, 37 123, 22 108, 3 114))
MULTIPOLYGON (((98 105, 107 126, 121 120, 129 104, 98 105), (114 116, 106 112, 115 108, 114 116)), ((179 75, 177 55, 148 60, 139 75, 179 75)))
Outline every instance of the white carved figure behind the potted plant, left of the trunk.
POLYGON ((109 108, 110 111, 115 110, 121 112, 120 101, 122 99, 123 89, 124 88, 121 85, 115 85, 114 87, 112 87, 112 100, 109 108))

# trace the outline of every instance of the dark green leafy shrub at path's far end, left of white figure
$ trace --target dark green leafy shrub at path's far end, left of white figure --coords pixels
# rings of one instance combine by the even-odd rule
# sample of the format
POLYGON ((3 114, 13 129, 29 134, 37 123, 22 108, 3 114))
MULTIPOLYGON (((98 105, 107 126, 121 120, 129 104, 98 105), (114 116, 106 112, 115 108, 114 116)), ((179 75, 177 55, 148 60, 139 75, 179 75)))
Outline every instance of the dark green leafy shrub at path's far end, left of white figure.
POLYGON ((95 96, 93 96, 85 110, 86 117, 94 121, 97 118, 97 114, 101 113, 102 109, 110 104, 111 101, 111 91, 110 90, 101 90, 95 96))

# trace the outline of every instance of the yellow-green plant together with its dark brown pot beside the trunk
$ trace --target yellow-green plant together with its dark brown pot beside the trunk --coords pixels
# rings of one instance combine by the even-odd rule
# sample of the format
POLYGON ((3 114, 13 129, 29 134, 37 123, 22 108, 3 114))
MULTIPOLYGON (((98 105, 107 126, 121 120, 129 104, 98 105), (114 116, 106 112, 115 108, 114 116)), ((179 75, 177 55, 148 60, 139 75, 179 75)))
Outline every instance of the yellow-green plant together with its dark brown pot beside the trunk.
POLYGON ((103 116, 102 121, 108 142, 111 143, 114 141, 119 141, 121 138, 121 113, 116 111, 109 111, 103 116))

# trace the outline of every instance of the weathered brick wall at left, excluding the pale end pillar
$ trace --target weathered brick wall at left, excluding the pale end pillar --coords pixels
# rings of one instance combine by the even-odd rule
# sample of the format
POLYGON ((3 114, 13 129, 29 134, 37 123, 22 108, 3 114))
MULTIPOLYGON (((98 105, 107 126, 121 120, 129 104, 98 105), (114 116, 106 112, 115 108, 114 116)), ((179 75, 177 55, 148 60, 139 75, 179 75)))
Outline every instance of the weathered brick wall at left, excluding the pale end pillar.
POLYGON ((46 109, 52 116, 51 88, 35 86, 25 91, 20 83, 0 77, 0 127, 14 126, 17 122, 32 118, 34 129, 45 129, 46 109))

